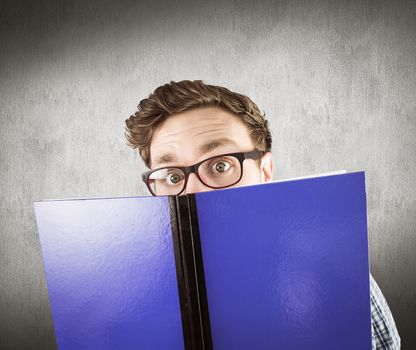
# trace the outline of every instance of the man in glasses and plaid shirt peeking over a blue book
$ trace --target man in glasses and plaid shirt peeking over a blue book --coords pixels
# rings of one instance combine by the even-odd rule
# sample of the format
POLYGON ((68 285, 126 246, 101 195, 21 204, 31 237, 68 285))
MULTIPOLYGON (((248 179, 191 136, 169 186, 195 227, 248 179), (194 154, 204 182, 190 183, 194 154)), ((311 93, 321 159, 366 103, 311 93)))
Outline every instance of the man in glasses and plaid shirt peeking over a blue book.
MULTIPOLYGON (((171 82, 143 99, 126 137, 151 169, 153 195, 272 181, 268 123, 247 96, 202 81, 171 82), (221 176, 219 176, 221 175, 221 176), (221 178, 221 180, 218 180, 221 178)), ((400 349, 390 309, 370 278, 373 349, 400 349)))

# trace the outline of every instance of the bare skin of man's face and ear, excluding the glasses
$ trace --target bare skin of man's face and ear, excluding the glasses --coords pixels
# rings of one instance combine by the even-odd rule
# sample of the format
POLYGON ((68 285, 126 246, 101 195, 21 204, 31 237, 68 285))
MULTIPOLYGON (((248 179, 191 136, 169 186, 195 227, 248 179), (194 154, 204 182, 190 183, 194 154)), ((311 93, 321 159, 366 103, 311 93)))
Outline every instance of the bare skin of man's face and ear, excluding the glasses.
MULTIPOLYGON (((232 113, 203 107, 175 114, 165 120, 150 145, 151 168, 189 166, 206 158, 255 149, 248 128, 232 113)), ((258 161, 246 159, 243 177, 232 187, 271 181, 273 160, 268 152, 258 161)), ((190 174, 184 193, 210 191, 190 174)))

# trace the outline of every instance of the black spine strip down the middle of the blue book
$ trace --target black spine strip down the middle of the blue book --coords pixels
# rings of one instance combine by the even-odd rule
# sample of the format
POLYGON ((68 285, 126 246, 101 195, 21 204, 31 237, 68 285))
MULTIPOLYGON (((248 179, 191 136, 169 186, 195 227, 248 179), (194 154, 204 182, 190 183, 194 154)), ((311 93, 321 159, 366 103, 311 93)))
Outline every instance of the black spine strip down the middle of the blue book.
POLYGON ((169 204, 185 349, 211 350, 195 195, 172 196, 169 204))

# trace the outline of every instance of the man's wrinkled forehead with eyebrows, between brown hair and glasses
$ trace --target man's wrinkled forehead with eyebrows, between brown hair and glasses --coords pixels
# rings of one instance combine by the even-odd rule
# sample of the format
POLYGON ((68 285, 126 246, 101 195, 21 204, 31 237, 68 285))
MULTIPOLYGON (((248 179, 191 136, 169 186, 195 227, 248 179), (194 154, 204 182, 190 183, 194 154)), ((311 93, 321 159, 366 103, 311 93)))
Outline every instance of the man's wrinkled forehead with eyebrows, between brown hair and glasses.
POLYGON ((247 126, 219 107, 204 107, 172 115, 155 131, 150 144, 152 168, 186 165, 218 152, 254 148, 247 126))

